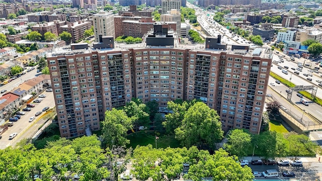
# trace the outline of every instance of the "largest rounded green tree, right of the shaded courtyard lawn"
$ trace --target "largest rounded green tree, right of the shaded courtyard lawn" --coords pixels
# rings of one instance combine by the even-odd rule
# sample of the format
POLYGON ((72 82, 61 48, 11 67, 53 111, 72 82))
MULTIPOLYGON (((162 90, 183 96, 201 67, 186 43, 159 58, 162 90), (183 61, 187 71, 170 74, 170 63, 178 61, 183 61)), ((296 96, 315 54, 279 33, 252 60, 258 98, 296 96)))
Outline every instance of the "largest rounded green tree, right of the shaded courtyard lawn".
POLYGON ((176 138, 186 147, 215 149, 215 142, 223 137, 221 122, 217 112, 206 104, 198 102, 190 107, 175 129, 176 138))

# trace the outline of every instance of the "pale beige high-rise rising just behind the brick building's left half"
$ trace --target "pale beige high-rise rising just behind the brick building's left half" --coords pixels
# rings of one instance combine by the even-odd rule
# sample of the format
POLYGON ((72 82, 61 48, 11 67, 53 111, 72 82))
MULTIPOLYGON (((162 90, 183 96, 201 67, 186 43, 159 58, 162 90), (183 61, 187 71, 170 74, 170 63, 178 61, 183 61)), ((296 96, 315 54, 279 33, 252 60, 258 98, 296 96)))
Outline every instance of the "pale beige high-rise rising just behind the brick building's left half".
POLYGON ((115 38, 114 15, 108 12, 99 12, 93 15, 95 41, 99 42, 99 35, 115 38))

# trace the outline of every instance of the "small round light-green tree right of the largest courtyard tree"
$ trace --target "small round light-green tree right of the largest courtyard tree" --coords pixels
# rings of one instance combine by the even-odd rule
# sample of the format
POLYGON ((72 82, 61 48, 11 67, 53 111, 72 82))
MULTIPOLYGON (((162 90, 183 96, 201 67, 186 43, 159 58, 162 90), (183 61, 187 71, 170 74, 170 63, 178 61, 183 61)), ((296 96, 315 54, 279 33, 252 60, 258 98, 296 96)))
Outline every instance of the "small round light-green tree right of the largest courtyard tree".
POLYGON ((252 137, 247 130, 234 129, 228 134, 227 140, 223 147, 226 148, 230 155, 247 156, 246 150, 251 146, 252 141, 252 137))

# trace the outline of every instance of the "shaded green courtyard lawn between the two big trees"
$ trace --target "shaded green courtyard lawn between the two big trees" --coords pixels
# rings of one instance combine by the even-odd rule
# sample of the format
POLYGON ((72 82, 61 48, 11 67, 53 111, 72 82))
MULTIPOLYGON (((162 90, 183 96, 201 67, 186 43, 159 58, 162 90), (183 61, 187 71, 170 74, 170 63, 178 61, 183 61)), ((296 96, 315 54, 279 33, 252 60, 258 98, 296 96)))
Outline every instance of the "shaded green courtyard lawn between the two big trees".
MULTIPOLYGON (((153 132, 154 133, 154 132, 153 132)), ((127 147, 132 147, 133 149, 137 146, 146 146, 151 144, 153 148, 155 148, 155 136, 154 134, 150 134, 147 131, 140 131, 137 133, 132 133, 126 136, 127 139, 130 140, 130 144, 127 147)), ((180 143, 175 139, 174 135, 171 136, 159 136, 159 139, 156 140, 157 148, 178 148, 181 147, 180 143)))

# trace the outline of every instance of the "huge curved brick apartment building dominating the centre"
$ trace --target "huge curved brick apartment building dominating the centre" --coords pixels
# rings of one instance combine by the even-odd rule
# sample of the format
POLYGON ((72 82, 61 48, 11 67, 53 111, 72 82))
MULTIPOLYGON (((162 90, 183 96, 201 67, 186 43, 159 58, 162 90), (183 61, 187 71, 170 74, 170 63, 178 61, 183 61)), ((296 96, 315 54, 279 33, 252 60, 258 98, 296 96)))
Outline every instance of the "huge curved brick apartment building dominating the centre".
POLYGON ((131 98, 155 100, 159 110, 172 100, 200 99, 217 110, 224 130, 259 133, 271 51, 227 47, 220 37, 206 40, 214 49, 179 47, 176 34, 166 32, 155 25, 144 43, 121 48, 113 48, 113 37, 100 36, 93 49, 87 44, 53 49, 47 60, 61 136, 100 129, 104 112, 131 98))

